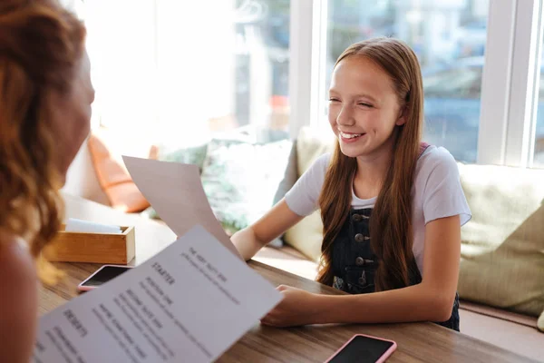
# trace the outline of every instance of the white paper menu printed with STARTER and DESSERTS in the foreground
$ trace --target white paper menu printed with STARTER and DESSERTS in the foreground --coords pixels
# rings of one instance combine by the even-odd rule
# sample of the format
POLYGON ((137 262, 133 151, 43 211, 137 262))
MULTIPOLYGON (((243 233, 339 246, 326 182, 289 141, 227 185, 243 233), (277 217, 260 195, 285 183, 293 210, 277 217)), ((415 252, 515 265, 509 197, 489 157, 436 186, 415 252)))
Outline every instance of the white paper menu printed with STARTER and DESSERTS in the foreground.
POLYGON ((34 362, 210 362, 281 295, 196 226, 39 321, 34 362))

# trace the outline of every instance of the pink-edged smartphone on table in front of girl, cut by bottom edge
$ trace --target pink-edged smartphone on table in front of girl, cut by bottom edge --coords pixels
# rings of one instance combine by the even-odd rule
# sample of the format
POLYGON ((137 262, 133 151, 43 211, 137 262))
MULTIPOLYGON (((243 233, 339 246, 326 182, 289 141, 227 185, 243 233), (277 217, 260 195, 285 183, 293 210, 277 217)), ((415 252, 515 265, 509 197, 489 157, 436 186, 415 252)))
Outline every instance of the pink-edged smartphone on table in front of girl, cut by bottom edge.
POLYGON ((325 363, 382 363, 396 347, 393 340, 355 334, 325 363))

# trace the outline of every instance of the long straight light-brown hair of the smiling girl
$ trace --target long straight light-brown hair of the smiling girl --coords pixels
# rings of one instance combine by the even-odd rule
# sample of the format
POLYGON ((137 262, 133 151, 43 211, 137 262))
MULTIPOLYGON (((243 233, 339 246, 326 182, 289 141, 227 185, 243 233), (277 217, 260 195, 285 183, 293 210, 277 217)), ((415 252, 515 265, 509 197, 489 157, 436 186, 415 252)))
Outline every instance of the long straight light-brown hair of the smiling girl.
MULTIPOLYGON (((393 131, 393 160, 370 220, 371 246, 380 262, 374 277, 375 289, 399 289, 409 284, 414 262, 412 186, 423 129, 422 75, 412 49, 396 39, 376 38, 353 44, 338 57, 335 66, 354 56, 370 59, 391 77, 406 119, 393 131)), ((328 285, 334 277, 333 243, 351 208, 356 169, 356 159, 345 156, 337 142, 319 197, 324 238, 317 280, 328 285)))

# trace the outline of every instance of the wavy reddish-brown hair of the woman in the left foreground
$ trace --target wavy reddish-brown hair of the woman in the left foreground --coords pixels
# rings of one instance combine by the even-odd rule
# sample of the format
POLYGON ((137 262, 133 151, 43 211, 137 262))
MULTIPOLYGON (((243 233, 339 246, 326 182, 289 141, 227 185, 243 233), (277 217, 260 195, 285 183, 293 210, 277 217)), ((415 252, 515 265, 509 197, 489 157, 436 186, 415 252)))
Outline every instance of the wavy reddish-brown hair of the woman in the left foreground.
POLYGON ((56 1, 0 3, 0 230, 29 242, 45 282, 55 274, 40 252, 63 215, 47 100, 70 92, 84 38, 82 22, 56 1))

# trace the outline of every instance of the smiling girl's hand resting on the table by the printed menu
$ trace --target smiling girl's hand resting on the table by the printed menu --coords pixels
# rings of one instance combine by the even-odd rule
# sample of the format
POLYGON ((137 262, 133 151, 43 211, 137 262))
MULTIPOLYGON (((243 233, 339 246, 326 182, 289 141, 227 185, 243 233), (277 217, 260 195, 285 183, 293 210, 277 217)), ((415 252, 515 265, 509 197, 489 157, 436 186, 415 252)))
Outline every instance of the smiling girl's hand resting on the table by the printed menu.
POLYGON ((276 288, 284 299, 261 319, 261 323, 284 328, 317 323, 319 295, 286 285, 276 288))

